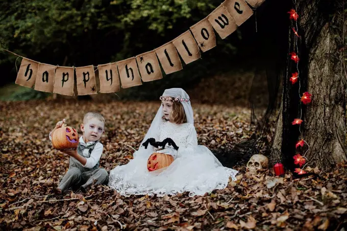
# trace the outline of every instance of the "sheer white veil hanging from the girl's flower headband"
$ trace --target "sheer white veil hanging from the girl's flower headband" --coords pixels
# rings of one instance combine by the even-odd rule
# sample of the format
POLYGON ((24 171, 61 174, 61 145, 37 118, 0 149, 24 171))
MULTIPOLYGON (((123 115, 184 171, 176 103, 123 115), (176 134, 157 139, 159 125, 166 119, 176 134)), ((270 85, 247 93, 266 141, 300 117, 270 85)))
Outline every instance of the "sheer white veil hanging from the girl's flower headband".
MULTIPOLYGON (((181 99, 190 99, 188 94, 186 93, 185 90, 182 88, 170 88, 164 90, 163 97, 165 96, 170 96, 173 98, 181 98, 181 99)), ((193 108, 191 107, 190 100, 188 102, 186 101, 180 101, 180 103, 183 105, 184 112, 186 113, 187 117, 187 123, 189 124, 194 124, 194 116, 193 116, 193 108)), ((158 141, 158 132, 159 132, 159 126, 160 123, 162 122, 162 117, 163 117, 163 106, 160 105, 157 114, 155 118, 152 121, 150 129, 148 129, 146 135, 144 136, 141 145, 137 151, 141 152, 148 152, 148 155, 152 154, 152 148, 151 146, 148 146, 147 149, 145 149, 142 144, 145 142, 148 138, 155 138, 156 141, 158 141)), ((136 152, 134 153, 134 156, 136 155, 136 152)), ((141 154, 143 155, 143 154, 141 154)))

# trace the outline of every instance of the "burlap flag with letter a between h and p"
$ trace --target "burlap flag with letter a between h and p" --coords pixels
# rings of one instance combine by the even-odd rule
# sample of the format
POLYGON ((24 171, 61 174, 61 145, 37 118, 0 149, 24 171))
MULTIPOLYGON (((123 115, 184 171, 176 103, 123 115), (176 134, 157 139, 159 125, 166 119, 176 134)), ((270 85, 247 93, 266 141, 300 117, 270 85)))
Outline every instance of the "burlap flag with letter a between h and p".
POLYGON ((51 93, 54 86, 54 74, 57 66, 40 63, 37 71, 35 90, 51 93))

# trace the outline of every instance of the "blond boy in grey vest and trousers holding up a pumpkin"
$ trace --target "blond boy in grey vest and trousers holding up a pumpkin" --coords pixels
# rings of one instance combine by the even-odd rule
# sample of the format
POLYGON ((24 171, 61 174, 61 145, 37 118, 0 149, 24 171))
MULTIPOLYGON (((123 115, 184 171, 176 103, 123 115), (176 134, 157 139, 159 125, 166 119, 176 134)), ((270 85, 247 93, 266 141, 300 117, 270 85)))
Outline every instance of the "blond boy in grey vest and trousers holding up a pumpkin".
MULTIPOLYGON (((65 123, 59 121, 56 127, 49 133, 49 140, 52 141, 52 132, 60 128, 65 123)), ((87 192, 87 187, 94 181, 95 184, 107 184, 108 173, 105 169, 99 168, 99 160, 103 153, 104 146, 100 143, 100 138, 104 131, 105 119, 102 114, 88 112, 85 114, 77 149, 61 150, 70 156, 69 169, 60 181, 56 193, 61 194, 71 187, 80 187, 82 192, 87 192)))

